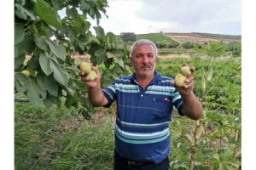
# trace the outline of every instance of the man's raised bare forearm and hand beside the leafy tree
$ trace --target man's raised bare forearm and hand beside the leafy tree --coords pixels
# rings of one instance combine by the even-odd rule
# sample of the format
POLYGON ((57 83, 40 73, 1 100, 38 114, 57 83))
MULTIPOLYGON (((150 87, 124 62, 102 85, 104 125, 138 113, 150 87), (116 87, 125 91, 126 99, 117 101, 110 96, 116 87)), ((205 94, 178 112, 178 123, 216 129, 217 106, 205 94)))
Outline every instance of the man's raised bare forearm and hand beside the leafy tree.
MULTIPOLYGON (((80 65, 78 64, 77 66, 79 67, 80 65)), ((96 71, 96 74, 97 74, 97 77, 94 81, 89 81, 88 77, 86 77, 87 75, 85 75, 83 71, 79 72, 81 81, 84 82, 84 84, 89 89, 88 95, 89 95, 90 103, 91 105, 96 107, 107 105, 108 99, 106 99, 106 97, 102 93, 102 88, 101 88, 101 73, 95 66, 92 66, 92 70, 96 71)))

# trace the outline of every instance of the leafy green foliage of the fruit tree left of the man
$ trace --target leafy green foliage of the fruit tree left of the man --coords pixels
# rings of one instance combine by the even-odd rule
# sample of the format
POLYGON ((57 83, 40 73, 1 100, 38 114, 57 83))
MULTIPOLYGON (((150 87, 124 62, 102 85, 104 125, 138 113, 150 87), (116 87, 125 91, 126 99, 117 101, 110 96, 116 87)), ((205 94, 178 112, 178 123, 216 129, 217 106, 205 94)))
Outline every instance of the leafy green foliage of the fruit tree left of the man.
POLYGON ((48 108, 61 107, 65 96, 65 106, 79 107, 90 117, 92 108, 72 54, 89 54, 90 62, 104 70, 103 85, 130 71, 128 48, 99 25, 106 8, 107 0, 15 0, 15 91, 26 94, 37 108, 42 101, 48 108), (62 19, 60 10, 66 10, 62 19), (96 36, 89 18, 96 20, 96 36), (23 70, 31 76, 24 76, 23 70))

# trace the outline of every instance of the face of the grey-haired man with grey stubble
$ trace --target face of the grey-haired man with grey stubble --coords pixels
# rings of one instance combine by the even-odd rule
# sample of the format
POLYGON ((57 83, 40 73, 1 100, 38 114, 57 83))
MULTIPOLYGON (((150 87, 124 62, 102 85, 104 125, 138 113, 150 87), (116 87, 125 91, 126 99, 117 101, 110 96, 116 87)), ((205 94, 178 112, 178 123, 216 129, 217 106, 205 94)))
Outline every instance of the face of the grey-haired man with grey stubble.
POLYGON ((131 60, 137 77, 148 78, 154 74, 156 56, 152 45, 143 44, 134 48, 131 60))

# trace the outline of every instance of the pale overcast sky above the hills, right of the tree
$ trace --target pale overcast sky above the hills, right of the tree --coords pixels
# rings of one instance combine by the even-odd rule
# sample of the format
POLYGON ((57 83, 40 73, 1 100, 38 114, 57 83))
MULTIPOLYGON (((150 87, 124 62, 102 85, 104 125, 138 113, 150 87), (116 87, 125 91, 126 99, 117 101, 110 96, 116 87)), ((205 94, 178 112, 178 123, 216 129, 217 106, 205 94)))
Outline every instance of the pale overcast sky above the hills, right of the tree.
POLYGON ((206 32, 241 35, 241 0, 108 0, 100 26, 114 34, 206 32))

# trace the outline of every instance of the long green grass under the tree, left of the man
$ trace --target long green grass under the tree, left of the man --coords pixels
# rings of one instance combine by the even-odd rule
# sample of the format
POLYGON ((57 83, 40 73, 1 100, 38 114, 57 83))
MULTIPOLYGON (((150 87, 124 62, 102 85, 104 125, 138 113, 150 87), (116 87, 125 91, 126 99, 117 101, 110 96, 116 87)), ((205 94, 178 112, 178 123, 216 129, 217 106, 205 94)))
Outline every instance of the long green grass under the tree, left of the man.
POLYGON ((15 103, 15 169, 113 169, 113 118, 99 115, 15 103))

